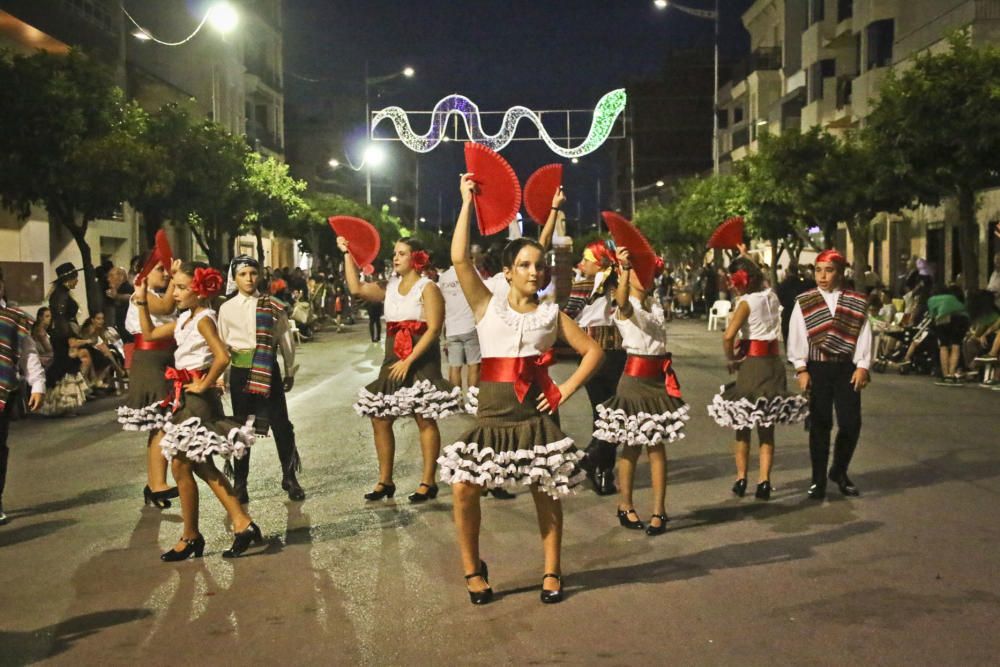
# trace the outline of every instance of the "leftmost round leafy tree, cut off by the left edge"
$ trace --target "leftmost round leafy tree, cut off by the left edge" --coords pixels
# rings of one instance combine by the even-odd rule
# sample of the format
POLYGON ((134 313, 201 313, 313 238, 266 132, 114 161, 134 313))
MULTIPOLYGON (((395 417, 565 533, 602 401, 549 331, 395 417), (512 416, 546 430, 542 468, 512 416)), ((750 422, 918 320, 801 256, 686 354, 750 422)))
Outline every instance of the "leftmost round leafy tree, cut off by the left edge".
POLYGON ((80 251, 87 305, 100 308, 87 229, 130 198, 156 169, 140 141, 145 114, 110 73, 83 54, 0 53, 0 202, 21 217, 33 204, 80 251))

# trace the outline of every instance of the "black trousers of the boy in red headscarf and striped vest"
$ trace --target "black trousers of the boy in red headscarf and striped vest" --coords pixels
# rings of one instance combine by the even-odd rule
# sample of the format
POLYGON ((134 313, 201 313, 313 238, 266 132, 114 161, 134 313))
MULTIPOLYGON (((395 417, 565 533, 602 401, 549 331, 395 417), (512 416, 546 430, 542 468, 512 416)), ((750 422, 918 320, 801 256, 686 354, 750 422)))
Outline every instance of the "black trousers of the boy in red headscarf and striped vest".
POLYGON ((837 437, 833 442, 831 475, 847 474, 861 435, 861 394, 851 386, 855 366, 848 361, 810 361, 809 456, 814 484, 826 485, 830 458, 833 412, 837 411, 837 437))

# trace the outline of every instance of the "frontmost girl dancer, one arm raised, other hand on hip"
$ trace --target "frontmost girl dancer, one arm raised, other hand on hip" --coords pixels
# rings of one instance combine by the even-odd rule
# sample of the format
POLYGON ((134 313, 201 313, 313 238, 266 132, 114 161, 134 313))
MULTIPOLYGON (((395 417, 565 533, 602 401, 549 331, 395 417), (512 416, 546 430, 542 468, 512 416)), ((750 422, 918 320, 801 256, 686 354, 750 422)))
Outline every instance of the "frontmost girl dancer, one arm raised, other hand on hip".
POLYGON ((451 240, 451 259, 476 318, 483 351, 476 426, 438 459, 441 479, 453 485, 455 526, 473 604, 493 598, 486 563, 479 556, 479 500, 482 489, 517 483, 531 488, 542 535, 545 568, 542 602, 562 600, 559 498, 583 477, 582 453, 556 422, 556 409, 601 363, 601 349, 555 304, 538 303, 544 253, 535 241, 511 241, 502 256, 510 283, 504 297, 491 294, 469 257, 469 216, 475 183, 462 176, 462 211, 451 240), (582 357, 562 385, 549 379, 556 338, 582 357))

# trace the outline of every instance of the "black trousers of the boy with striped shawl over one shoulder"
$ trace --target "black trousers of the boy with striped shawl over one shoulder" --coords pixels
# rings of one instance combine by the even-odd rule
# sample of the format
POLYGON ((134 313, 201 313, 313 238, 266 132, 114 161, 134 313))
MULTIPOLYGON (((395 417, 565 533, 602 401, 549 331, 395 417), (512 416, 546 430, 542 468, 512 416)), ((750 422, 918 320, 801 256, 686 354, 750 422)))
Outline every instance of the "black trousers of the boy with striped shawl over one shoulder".
MULTIPOLYGON (((246 421, 254 415, 254 430, 259 436, 266 436, 268 428, 274 433, 274 443, 281 461, 282 479, 294 478, 300 467, 299 452, 295 446, 295 427, 288 418, 288 403, 285 401, 285 387, 277 361, 271 369, 271 394, 261 396, 248 394, 244 389, 250 379, 249 368, 232 368, 229 371, 229 395, 233 401, 233 415, 237 421, 246 421)), ((237 486, 246 486, 250 476, 250 450, 246 456, 233 462, 234 481, 237 486)))

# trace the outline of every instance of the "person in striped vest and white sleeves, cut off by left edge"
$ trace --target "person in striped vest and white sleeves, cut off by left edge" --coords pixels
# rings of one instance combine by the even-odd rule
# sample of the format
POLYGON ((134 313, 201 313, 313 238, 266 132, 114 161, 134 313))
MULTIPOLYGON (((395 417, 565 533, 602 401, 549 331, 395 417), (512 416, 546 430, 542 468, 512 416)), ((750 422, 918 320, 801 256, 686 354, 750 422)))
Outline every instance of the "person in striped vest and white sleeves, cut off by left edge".
POLYGON ((7 523, 7 515, 3 512, 3 487, 7 483, 10 454, 7 433, 11 406, 16 400, 19 368, 31 388, 28 408, 38 410, 45 398, 45 369, 31 338, 31 319, 16 308, 8 308, 3 295, 3 276, 0 275, 0 526, 7 523))

